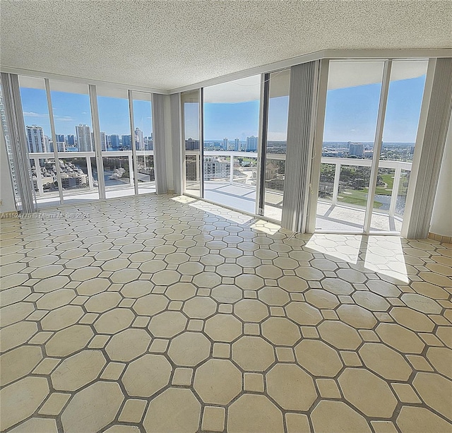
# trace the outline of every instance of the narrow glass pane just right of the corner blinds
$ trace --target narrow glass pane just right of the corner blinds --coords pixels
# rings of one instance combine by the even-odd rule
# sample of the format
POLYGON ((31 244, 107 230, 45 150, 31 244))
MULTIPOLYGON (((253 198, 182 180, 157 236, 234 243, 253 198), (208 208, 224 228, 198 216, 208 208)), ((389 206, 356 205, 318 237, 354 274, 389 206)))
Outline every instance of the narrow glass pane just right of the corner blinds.
POLYGON ((201 148, 199 146, 199 93, 182 93, 183 143, 185 143, 185 191, 201 195, 201 148))

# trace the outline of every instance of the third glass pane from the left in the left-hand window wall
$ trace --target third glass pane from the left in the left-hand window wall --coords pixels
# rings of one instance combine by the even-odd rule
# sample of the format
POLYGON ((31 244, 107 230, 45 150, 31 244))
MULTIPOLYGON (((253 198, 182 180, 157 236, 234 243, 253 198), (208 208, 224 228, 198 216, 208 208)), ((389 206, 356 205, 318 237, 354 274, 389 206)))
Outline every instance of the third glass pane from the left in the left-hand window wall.
POLYGON ((132 196, 135 191, 133 189, 129 99, 99 96, 108 95, 108 90, 105 89, 102 89, 97 95, 100 134, 101 136, 105 134, 107 149, 102 152, 105 195, 107 198, 132 196))

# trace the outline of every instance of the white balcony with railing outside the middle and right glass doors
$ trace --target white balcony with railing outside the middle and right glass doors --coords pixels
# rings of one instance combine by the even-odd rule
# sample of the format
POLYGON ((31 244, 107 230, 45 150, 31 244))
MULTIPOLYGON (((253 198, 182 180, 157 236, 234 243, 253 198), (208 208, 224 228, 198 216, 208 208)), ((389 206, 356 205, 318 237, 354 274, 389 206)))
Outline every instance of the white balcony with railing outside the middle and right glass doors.
MULTIPOLYGON (((196 157, 199 162, 200 154, 196 151, 186 151, 186 155, 196 157)), ((255 213, 256 203, 256 173, 254 167, 240 167, 238 158, 256 160, 257 153, 205 151, 204 156, 218 158, 229 164, 229 171, 218 174, 213 179, 209 177, 204 182, 204 197, 224 206, 255 213), (234 165, 230 166, 230 160, 234 165)), ((285 160, 284 154, 268 154, 267 160, 285 160)), ((362 232, 366 210, 367 189, 355 186, 350 188, 343 175, 343 167, 367 167, 370 171, 371 160, 353 158, 321 159, 322 167, 333 170, 330 177, 332 182, 321 176, 319 185, 319 200, 316 215, 316 230, 325 232, 362 232)), ((386 161, 379 162, 382 179, 387 184, 377 187, 374 198, 374 209, 371 218, 371 230, 382 232, 400 232, 405 210, 406 189, 411 172, 411 162, 386 161)), ((189 191, 190 192, 190 191, 189 191)), ((265 216, 273 220, 281 220, 283 210, 283 191, 265 190, 265 216)))

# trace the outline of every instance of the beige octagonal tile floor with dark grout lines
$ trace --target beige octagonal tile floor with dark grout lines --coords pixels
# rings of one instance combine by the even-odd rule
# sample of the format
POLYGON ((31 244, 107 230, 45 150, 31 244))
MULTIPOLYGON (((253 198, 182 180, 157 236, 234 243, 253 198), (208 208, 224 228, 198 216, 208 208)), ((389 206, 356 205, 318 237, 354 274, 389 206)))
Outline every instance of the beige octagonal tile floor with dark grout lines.
POLYGON ((451 245, 58 211, 1 221, 2 431, 452 431, 451 245))

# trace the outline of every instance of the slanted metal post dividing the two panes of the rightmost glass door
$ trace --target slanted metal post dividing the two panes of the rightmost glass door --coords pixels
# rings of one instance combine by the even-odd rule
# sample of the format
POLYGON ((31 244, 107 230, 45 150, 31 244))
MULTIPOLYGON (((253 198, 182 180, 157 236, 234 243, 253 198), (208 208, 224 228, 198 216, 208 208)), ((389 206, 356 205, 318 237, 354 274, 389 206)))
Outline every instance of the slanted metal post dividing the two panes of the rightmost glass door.
POLYGON ((374 140, 374 155, 372 158, 369 190, 367 192, 367 206, 364 215, 363 232, 369 234, 372 219, 372 211, 374 209, 374 196, 376 191, 376 180, 379 174, 379 160, 381 153, 381 145, 383 140, 384 120, 386 117, 386 105, 388 104, 389 83, 391 82, 392 60, 386 60, 383 69, 383 80, 381 83, 381 93, 379 102, 379 113, 376 121, 376 131, 374 140))

